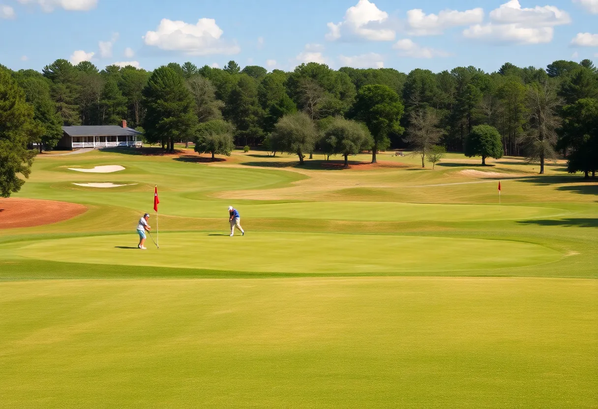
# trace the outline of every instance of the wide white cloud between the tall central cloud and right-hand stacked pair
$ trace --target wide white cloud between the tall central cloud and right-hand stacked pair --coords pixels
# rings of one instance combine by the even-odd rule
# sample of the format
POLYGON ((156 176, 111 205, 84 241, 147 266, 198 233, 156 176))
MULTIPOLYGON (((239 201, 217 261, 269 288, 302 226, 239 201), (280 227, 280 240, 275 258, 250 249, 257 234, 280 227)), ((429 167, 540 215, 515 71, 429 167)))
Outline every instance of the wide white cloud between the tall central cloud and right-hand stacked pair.
POLYGON ((438 15, 425 14, 421 9, 407 11, 407 24, 411 35, 438 35, 444 29, 468 26, 484 20, 484 9, 456 11, 443 10, 438 15))

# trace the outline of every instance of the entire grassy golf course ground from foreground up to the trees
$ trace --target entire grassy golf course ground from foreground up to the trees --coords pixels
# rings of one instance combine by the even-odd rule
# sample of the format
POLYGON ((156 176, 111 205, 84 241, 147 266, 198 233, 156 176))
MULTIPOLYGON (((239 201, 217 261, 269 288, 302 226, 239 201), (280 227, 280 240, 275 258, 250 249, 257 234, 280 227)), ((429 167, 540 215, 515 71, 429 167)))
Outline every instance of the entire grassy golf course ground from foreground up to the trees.
POLYGON ((596 182, 315 157, 36 158, 15 196, 88 210, 0 230, 0 409, 598 408, 596 182))

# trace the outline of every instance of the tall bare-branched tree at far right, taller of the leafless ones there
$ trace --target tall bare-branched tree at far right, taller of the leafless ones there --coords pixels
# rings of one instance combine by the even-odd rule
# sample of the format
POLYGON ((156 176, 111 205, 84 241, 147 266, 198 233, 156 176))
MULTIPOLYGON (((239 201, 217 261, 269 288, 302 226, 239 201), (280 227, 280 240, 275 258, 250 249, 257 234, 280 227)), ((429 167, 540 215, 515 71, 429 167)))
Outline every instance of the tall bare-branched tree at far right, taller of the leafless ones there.
POLYGON ((561 123, 557 108, 563 105, 563 100, 557 95, 554 83, 544 81, 527 86, 526 102, 530 113, 526 157, 528 162, 539 161, 540 174, 543 175, 545 160, 556 158, 556 129, 561 123))

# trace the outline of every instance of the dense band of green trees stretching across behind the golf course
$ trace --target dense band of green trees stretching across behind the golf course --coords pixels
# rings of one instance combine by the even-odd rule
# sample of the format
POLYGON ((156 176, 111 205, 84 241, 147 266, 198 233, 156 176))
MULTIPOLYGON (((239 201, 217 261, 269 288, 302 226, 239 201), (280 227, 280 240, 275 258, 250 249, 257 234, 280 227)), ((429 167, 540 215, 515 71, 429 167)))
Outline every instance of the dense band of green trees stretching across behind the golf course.
POLYGON ((568 158, 570 172, 586 177, 598 167, 598 72, 590 60, 558 60, 546 69, 505 63, 492 73, 474 66, 408 74, 334 70, 318 63, 268 72, 234 61, 222 69, 186 62, 152 72, 115 65, 100 71, 91 62, 63 59, 42 72, 1 65, 0 71, 2 89, 15 86, 14 97, 30 106, 26 141, 39 142, 40 149, 56 146, 63 125, 125 119, 148 142, 169 150, 181 141, 212 154, 264 145, 303 161, 315 151, 346 157, 368 149, 376 161, 380 150, 411 148, 425 166, 438 146, 478 155, 468 137, 474 127, 489 126, 501 145, 494 144, 491 155, 523 155, 540 163, 541 172, 557 155, 568 158))

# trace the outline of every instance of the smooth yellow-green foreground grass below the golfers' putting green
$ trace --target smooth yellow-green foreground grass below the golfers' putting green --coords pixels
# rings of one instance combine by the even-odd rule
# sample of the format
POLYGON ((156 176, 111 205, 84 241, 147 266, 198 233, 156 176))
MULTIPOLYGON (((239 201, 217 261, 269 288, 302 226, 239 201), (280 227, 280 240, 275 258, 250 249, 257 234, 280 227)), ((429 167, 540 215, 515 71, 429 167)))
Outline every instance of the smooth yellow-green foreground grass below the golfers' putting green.
POLYGON ((0 407, 591 408, 596 282, 0 287, 0 407))

